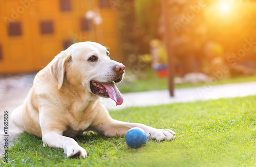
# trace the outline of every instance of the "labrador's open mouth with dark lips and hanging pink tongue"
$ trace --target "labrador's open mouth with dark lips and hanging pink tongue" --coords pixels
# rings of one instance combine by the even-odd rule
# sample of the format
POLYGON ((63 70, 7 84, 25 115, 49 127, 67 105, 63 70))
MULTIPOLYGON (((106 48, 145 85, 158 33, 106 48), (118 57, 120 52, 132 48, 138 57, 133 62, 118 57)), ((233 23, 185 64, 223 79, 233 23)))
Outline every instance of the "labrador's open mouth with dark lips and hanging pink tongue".
POLYGON ((111 98, 116 102, 116 105, 123 103, 123 96, 113 82, 100 83, 96 81, 90 82, 91 91, 103 98, 111 98))

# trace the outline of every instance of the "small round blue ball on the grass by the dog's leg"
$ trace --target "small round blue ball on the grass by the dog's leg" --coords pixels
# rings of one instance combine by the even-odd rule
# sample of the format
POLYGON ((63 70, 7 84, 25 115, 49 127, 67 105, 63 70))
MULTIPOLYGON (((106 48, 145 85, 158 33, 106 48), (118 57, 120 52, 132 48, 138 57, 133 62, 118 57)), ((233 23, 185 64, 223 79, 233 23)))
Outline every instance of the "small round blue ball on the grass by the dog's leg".
POLYGON ((146 133, 141 128, 132 128, 125 135, 125 141, 131 148, 138 148, 146 144, 146 133))

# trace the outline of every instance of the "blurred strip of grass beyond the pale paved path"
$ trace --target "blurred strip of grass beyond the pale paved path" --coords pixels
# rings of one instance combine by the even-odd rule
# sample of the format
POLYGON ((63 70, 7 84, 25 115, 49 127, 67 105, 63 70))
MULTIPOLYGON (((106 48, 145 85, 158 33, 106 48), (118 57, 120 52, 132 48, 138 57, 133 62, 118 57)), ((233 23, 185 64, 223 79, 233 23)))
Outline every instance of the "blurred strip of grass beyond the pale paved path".
MULTIPOLYGON (((159 78, 155 71, 152 69, 145 69, 140 71, 135 76, 131 76, 130 71, 126 71, 126 76, 121 83, 118 83, 118 89, 120 92, 137 92, 137 91, 150 91, 150 90, 163 90, 168 89, 167 78, 159 78)), ((212 85, 228 84, 228 83, 240 83, 256 81, 256 76, 241 76, 236 78, 223 79, 215 82, 212 85)), ((204 86, 209 83, 183 83, 175 84, 175 88, 197 87, 204 86)))

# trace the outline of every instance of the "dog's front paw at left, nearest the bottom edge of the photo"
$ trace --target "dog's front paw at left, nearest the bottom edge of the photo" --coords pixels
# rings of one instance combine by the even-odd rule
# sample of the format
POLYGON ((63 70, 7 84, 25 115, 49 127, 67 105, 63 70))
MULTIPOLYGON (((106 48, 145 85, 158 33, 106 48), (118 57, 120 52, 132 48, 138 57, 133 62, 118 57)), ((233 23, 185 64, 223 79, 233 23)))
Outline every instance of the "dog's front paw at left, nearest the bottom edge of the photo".
POLYGON ((73 147, 68 147, 67 148, 67 156, 69 158, 86 158, 87 157, 87 153, 86 150, 84 150, 82 147, 80 146, 73 146, 73 147))

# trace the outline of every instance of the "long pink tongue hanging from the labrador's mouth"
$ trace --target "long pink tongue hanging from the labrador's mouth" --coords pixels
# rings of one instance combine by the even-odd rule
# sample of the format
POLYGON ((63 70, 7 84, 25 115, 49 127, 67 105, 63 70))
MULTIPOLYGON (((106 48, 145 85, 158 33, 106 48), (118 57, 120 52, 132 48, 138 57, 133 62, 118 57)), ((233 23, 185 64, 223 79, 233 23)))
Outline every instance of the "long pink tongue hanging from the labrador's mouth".
POLYGON ((101 84, 108 90, 110 98, 116 102, 116 105, 121 105, 123 103, 123 96, 113 82, 109 84, 101 84))

